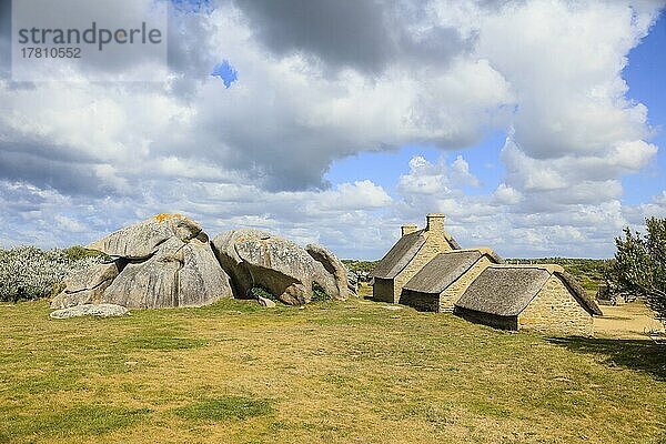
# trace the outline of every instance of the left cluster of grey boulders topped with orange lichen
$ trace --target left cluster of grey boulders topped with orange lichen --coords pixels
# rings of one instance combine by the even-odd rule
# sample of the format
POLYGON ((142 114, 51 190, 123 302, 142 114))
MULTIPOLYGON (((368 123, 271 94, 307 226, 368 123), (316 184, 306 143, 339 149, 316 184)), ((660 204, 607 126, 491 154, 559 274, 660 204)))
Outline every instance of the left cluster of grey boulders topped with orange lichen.
POLYGON ((51 303, 161 309, 201 306, 231 297, 229 276, 196 222, 160 214, 92 242, 89 249, 118 258, 68 279, 51 303))

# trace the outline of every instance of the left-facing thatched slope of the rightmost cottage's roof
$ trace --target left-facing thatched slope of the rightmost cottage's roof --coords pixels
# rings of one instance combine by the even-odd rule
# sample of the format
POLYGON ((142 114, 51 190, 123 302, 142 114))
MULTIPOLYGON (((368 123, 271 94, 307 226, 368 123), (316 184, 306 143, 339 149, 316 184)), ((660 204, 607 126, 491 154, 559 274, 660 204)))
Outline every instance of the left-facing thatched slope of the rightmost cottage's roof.
POLYGON ((516 316, 551 278, 545 268, 488 266, 455 303, 457 307, 516 316))

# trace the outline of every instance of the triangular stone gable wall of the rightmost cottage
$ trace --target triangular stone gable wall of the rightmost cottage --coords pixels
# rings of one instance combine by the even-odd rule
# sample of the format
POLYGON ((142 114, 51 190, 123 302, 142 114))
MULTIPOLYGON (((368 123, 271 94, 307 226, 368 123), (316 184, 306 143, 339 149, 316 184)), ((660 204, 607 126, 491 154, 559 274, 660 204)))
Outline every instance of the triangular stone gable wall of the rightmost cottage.
POLYGON ((518 326, 539 332, 589 336, 594 320, 555 274, 518 315, 518 326))

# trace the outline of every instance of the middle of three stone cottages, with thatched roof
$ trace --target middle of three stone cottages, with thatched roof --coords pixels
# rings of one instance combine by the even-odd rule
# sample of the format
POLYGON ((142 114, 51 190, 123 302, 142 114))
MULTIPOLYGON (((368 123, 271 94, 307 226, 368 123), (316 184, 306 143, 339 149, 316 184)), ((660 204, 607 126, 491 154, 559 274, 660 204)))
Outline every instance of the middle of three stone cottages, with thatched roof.
POLYGON ((476 276, 502 262, 486 248, 440 253, 403 286, 400 303, 418 311, 451 313, 476 276))

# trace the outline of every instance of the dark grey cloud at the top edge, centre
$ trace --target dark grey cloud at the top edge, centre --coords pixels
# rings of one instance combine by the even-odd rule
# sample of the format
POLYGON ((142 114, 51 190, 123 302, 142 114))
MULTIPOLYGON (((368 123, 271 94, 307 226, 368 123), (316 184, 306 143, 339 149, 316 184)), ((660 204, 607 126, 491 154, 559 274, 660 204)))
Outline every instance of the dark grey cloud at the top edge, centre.
POLYGON ((380 75, 405 59, 446 64, 473 43, 410 2, 249 0, 236 6, 272 53, 303 54, 334 72, 352 68, 380 75))

